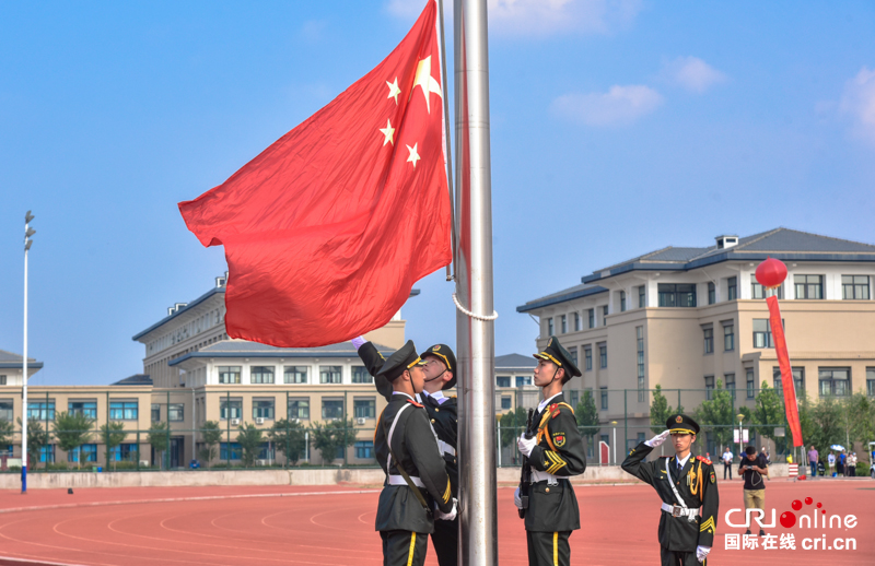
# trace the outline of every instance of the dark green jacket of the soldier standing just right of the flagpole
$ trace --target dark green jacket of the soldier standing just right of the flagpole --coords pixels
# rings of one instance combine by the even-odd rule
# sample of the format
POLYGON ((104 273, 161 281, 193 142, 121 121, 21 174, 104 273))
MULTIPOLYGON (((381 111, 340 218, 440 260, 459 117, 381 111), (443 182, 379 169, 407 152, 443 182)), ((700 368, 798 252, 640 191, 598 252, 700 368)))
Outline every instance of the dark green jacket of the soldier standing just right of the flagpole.
POLYGON ((586 447, 578 432, 574 412, 559 404, 564 402, 560 393, 534 417, 539 431, 544 432, 540 441, 532 449, 528 463, 533 470, 551 473, 560 481, 559 485, 548 485, 547 482, 532 484, 526 510, 527 531, 556 532, 581 528, 578 496, 571 483, 563 479, 586 470, 586 447))

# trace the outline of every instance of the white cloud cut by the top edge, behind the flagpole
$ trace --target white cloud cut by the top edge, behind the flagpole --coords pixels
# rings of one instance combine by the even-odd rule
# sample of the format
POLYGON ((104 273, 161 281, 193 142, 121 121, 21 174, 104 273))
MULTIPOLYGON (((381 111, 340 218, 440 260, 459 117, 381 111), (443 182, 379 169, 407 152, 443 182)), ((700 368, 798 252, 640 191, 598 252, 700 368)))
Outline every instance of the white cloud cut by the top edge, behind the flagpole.
MULTIPOLYGON (((444 0, 446 26, 453 0, 444 0)), ((388 0, 387 10, 399 17, 418 15, 422 0, 388 0)), ((578 32, 608 34, 628 25, 642 9, 642 0, 487 0, 489 33, 510 36, 547 36, 578 32)))

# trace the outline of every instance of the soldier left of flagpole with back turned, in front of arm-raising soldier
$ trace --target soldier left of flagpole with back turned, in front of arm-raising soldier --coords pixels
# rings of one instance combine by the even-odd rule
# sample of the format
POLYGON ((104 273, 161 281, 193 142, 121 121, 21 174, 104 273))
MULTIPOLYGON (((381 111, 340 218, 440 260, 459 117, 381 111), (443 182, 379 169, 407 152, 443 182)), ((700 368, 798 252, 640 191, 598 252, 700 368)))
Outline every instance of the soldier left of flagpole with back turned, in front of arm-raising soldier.
POLYGON ((375 521, 386 566, 424 564, 434 519, 456 518, 456 499, 444 460, 428 413, 416 401, 425 381, 423 365, 413 342, 408 341, 376 375, 393 386, 392 399, 374 434, 376 459, 386 472, 375 521))

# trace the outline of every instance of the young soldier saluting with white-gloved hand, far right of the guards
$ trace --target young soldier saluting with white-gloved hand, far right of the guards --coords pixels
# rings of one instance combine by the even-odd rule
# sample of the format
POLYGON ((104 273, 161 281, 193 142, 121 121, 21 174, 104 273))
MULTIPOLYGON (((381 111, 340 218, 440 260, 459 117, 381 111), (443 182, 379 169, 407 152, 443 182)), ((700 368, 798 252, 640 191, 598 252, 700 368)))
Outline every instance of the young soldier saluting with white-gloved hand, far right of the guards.
POLYGON ((699 425, 685 414, 668 417, 663 432, 634 447, 622 469, 656 490, 663 500, 660 518, 660 553, 663 566, 707 564, 718 526, 719 494, 711 460, 692 457, 690 446, 699 425), (668 435, 675 456, 652 462, 644 459, 668 435))

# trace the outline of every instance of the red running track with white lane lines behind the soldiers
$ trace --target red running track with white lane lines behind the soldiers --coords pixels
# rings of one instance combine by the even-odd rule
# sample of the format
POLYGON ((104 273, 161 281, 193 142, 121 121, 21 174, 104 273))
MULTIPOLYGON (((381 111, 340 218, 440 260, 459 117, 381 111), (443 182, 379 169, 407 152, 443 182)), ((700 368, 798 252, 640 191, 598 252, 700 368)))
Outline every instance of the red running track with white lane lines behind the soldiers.
MULTIPOLYGON (((0 565, 354 565, 382 564, 373 530, 376 490, 350 486, 166 487, 0 492, 0 565)), ((578 486, 582 529, 571 536, 572 564, 658 564, 658 499, 645 485, 578 486)), ((724 514, 742 506, 742 484, 721 483, 721 517, 709 564, 875 564, 875 482, 767 484, 767 508, 791 510, 794 499, 822 503, 827 517, 858 517, 853 529, 791 529, 796 550, 725 550, 724 514), (805 551, 802 539, 853 538, 855 551, 805 551)), ((513 490, 499 490, 499 559, 527 563, 523 521, 513 490)), ((803 511, 813 509, 804 508, 803 511)), ((800 514, 797 514, 800 515, 800 514)), ((427 564, 436 566, 430 547, 427 564)))

